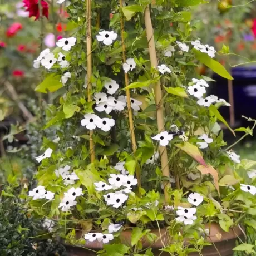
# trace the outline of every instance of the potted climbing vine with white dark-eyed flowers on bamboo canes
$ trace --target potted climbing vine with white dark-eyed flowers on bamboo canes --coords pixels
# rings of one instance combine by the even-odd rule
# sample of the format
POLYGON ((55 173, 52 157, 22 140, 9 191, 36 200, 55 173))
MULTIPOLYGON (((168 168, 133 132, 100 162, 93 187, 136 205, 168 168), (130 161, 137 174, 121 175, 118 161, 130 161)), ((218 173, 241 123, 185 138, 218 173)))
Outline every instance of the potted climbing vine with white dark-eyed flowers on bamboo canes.
POLYGON ((29 205, 70 255, 253 252, 239 235, 255 221, 256 162, 229 151, 218 124, 234 134, 218 110, 229 104, 195 75, 200 61, 232 79, 190 36, 188 5, 201 2, 71 0, 70 36, 35 60, 47 71, 36 91, 61 96, 29 205))

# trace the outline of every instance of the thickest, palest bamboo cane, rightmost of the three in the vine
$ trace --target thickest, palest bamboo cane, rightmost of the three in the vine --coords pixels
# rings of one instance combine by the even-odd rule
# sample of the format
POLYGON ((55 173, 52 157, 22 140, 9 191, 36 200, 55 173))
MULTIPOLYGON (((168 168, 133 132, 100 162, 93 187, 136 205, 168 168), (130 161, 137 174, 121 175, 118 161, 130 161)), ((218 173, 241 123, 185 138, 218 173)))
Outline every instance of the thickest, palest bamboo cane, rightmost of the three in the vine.
MULTIPOLYGON (((145 9, 144 13, 145 18, 145 26, 146 26, 146 35, 147 35, 147 43, 149 45, 149 56, 151 66, 156 68, 158 65, 157 57, 156 57, 156 47, 154 40, 154 31, 152 27, 151 17, 149 5, 145 9)), ((154 85, 154 93, 155 93, 155 102, 156 102, 156 118, 157 118, 157 127, 159 132, 163 132, 165 130, 165 121, 164 121, 164 106, 162 101, 162 91, 160 81, 157 81, 154 85)), ((159 146, 160 156, 161 156, 161 168, 163 176, 170 177, 169 166, 168 166, 168 155, 167 149, 164 146, 159 146)), ((164 195, 166 203, 169 201, 168 195, 168 187, 170 186, 169 181, 165 181, 164 183, 164 195)))

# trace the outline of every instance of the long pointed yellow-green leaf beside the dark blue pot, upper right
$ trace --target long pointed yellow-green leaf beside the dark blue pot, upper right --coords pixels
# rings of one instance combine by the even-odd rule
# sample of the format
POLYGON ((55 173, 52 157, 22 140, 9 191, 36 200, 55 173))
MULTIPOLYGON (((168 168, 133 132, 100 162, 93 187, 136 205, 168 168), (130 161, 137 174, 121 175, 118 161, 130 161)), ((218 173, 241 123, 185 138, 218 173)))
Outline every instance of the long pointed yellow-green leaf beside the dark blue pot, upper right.
POLYGON ((233 77, 230 76, 225 67, 223 67, 219 62, 213 60, 213 58, 211 58, 207 53, 200 52, 195 48, 192 51, 195 53, 196 59, 202 62, 205 66, 209 67, 212 71, 224 78, 233 80, 233 77))

